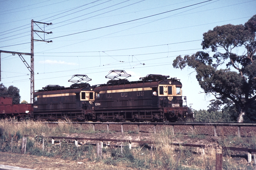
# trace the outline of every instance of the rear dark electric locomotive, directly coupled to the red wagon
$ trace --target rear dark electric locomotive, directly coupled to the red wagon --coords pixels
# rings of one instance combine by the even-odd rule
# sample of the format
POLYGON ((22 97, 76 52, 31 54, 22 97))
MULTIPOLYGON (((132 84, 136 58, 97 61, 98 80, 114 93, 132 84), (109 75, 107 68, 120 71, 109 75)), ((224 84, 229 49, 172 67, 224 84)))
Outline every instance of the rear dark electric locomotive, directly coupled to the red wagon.
POLYGON ((87 120, 86 116, 91 115, 93 103, 89 101, 89 96, 85 97, 85 93, 89 94, 91 89, 90 86, 85 88, 52 86, 39 90, 34 93, 32 118, 35 120, 87 120))

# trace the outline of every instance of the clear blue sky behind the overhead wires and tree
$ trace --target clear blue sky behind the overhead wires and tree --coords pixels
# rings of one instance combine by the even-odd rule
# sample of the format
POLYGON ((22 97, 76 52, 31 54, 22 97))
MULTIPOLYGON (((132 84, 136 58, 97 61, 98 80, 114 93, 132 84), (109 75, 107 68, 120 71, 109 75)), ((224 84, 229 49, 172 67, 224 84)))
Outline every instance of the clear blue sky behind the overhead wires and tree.
MULTIPOLYGON (((202 51, 202 34, 215 26, 247 22, 256 13, 256 1, 202 2, 0 0, 0 50, 30 53, 31 20, 51 22, 37 24, 53 32, 38 33, 53 42, 34 43, 35 90, 55 84, 69 87, 74 74, 86 74, 91 85, 106 83, 110 70, 125 70, 132 75, 129 81, 162 74, 180 79, 188 105, 207 109, 213 97, 203 93, 194 70, 174 69, 173 60, 202 51)), ((34 30, 39 30, 37 25, 34 30)), ((38 35, 34 33, 34 39, 40 39, 38 35)), ((23 57, 30 64, 30 56, 23 57)), ((30 101, 30 72, 18 55, 1 53, 1 74, 1 83, 18 87, 21 100, 30 101)))

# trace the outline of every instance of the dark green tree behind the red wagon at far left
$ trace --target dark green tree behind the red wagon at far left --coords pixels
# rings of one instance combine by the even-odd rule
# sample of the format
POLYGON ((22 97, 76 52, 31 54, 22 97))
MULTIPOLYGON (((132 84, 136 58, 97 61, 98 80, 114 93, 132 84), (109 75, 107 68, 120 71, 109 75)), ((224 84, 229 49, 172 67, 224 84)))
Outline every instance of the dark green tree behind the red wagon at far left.
POLYGON ((13 104, 20 103, 20 90, 17 87, 9 86, 6 88, 3 83, 0 84, 0 97, 12 97, 13 104))

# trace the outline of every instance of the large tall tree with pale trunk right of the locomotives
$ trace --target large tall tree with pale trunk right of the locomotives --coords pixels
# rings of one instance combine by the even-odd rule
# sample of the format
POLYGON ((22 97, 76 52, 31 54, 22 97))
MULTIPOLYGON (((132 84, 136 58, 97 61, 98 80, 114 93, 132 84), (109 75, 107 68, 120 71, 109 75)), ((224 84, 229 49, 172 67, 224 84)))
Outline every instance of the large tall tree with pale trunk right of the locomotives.
MULTIPOLYGON (((248 108, 255 103, 256 93, 256 15, 244 25, 222 25, 203 33, 203 49, 196 54, 180 55, 174 60, 174 68, 186 66, 196 70, 196 79, 205 93, 211 93, 223 104, 234 105, 238 122, 243 122, 248 108), (234 53, 236 48, 244 53, 234 53), (224 50, 224 53, 220 51, 224 50), (225 67, 223 67, 225 66, 225 67)), ((255 116, 255 114, 254 114, 255 116)))

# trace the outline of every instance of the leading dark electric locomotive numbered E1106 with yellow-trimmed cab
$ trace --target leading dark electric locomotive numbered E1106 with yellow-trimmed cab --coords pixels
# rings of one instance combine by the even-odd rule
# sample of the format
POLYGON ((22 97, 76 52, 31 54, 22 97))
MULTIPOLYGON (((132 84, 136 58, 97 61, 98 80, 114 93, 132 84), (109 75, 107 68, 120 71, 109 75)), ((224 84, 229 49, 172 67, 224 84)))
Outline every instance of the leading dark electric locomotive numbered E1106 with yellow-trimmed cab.
POLYGON ((187 113, 181 87, 176 79, 97 86, 95 116, 101 121, 176 121, 187 113))

